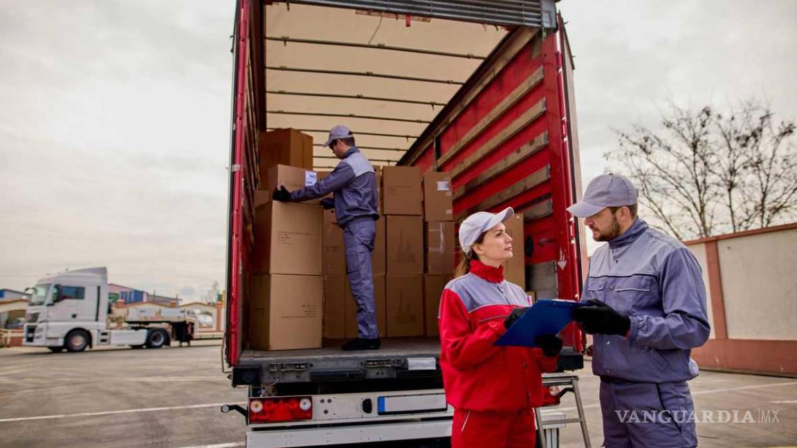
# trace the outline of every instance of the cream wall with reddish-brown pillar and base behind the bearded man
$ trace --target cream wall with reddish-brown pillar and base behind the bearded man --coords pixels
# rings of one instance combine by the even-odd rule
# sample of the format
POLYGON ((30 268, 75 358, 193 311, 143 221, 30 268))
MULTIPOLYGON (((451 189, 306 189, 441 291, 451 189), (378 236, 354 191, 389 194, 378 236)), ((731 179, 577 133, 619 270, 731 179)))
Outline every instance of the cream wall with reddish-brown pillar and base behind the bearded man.
POLYGON ((704 270, 712 339, 701 367, 797 375, 797 223, 685 243, 704 270))

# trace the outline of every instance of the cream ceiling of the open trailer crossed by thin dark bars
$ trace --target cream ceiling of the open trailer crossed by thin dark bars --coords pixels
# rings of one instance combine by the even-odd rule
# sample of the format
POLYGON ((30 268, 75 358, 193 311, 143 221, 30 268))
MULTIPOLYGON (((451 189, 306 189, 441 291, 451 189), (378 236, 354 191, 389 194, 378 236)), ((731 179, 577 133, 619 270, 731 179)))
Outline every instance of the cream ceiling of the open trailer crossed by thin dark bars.
MULTIPOLYGON (((320 144, 332 126, 346 124, 375 165, 395 164, 508 33, 502 26, 406 18, 372 7, 395 11, 393 6, 420 3, 485 2, 266 3, 266 128, 310 134, 318 145, 313 164, 323 169, 336 160, 320 144), (296 3, 371 6, 365 11, 296 3)), ((418 8, 409 11, 419 14, 418 8)))

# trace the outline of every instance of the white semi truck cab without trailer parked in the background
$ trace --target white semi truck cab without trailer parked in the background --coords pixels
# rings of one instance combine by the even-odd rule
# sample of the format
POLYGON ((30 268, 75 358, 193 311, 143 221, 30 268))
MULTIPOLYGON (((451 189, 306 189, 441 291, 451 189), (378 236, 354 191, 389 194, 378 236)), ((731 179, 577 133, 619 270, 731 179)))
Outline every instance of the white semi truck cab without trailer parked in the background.
POLYGON ((100 346, 161 348, 171 340, 190 342, 194 322, 183 310, 155 318, 109 322, 108 269, 75 269, 41 278, 26 311, 22 344, 52 352, 83 352, 100 346))

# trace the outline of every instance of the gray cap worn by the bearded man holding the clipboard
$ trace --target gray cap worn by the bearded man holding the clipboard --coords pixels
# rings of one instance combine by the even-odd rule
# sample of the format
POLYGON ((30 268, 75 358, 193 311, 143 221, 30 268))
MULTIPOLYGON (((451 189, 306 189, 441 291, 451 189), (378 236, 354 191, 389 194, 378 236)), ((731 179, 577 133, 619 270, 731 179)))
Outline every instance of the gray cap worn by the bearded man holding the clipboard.
POLYGON ((584 198, 567 207, 567 211, 578 218, 587 218, 606 207, 634 205, 637 196, 634 184, 621 175, 599 175, 587 185, 584 198))

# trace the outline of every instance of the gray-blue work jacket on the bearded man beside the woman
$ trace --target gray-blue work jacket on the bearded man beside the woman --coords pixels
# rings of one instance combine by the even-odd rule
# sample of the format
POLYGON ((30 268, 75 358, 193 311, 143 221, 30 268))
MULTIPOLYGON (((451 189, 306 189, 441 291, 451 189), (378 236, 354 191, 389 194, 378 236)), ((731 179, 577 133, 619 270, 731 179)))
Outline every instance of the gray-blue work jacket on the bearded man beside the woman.
POLYGON ((627 336, 595 335, 592 371, 641 383, 697 376, 691 349, 709 338, 697 259, 677 239, 637 219, 592 255, 582 300, 598 299, 631 320, 627 336))

